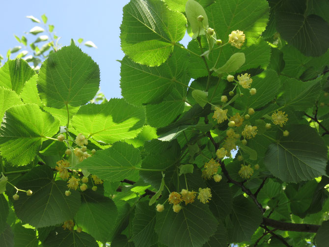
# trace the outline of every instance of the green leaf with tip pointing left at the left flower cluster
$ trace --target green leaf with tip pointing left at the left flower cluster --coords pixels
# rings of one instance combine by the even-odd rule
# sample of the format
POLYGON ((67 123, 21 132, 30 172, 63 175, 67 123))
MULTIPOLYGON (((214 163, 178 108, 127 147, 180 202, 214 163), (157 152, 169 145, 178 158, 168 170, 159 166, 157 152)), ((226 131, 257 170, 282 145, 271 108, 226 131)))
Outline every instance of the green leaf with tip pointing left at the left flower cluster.
POLYGON ((115 142, 112 147, 97 151, 82 161, 79 168, 86 168, 91 174, 110 182, 123 179, 137 180, 141 158, 139 150, 124 142, 115 142))

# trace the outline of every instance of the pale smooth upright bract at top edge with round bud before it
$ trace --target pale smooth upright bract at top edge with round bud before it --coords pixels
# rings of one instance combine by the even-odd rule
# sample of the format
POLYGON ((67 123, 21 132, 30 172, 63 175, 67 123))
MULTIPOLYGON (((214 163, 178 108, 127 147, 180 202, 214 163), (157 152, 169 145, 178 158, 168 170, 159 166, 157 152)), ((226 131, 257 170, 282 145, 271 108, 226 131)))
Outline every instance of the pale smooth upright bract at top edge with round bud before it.
POLYGON ((206 11, 201 4, 194 0, 188 0, 185 5, 185 13, 194 33, 193 38, 199 35, 205 35, 204 29, 207 29, 209 24, 206 11), (197 20, 197 17, 200 15, 204 18, 202 22, 197 20))

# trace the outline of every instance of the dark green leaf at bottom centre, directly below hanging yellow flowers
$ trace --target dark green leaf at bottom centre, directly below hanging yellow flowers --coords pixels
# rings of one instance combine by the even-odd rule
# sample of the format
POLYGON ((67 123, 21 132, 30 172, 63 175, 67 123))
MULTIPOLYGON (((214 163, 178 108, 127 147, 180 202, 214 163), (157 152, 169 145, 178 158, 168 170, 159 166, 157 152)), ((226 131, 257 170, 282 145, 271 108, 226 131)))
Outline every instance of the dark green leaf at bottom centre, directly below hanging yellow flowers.
POLYGON ((182 206, 179 213, 167 208, 157 213, 155 230, 159 242, 170 247, 202 247, 217 228, 218 221, 208 206, 199 201, 182 206))

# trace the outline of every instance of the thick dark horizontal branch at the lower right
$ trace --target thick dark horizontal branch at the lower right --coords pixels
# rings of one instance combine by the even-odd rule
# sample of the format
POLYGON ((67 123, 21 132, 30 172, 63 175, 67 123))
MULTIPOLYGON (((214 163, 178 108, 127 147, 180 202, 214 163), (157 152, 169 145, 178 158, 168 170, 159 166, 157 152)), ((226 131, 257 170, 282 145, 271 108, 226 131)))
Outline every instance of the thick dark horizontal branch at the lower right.
POLYGON ((264 217, 262 224, 274 227, 278 230, 292 231, 292 232, 317 232, 320 228, 320 225, 288 223, 288 222, 272 220, 264 217))

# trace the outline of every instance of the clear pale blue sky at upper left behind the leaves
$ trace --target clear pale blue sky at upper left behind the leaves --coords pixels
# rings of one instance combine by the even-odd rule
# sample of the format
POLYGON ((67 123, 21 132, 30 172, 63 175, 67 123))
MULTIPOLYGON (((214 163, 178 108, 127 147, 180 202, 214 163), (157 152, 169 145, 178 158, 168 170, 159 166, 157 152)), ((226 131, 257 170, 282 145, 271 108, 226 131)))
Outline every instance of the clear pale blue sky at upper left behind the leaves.
MULTIPOLYGON (((100 66, 101 91, 109 98, 121 97, 120 63, 124 56, 120 48, 120 25, 122 8, 129 0, 0 0, 0 54, 5 57, 7 50, 20 45, 15 37, 25 35, 28 43, 39 35, 25 34, 34 26, 26 16, 41 20, 41 15, 48 17, 47 24, 55 26, 55 33, 61 36, 59 43, 69 45, 71 38, 91 40, 97 49, 81 46, 82 51, 92 57, 100 66)), ((186 42, 183 42, 186 43, 186 42)), ((22 49, 23 50, 23 49, 22 49)), ((17 53, 18 54, 18 53, 17 53)), ((13 59, 16 54, 12 55, 13 59)))

